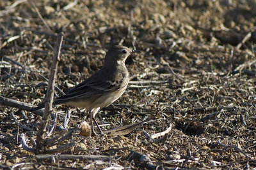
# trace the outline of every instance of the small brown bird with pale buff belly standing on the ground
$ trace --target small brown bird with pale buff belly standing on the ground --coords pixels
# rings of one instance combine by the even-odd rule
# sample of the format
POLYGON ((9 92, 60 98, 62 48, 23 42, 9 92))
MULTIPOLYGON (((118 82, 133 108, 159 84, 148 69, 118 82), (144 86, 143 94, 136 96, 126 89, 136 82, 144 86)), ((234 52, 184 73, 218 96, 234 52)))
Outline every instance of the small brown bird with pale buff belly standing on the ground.
MULTIPOLYGON (((103 134, 95 120, 95 115, 100 108, 109 106, 124 94, 129 83, 129 72, 125 66, 125 60, 132 53, 139 52, 140 50, 132 50, 126 46, 111 46, 105 55, 104 66, 99 71, 70 89, 67 94, 57 97, 52 104, 86 108, 90 113, 92 133, 97 135, 93 127, 94 122, 100 134, 103 134)), ((42 108, 44 104, 31 111, 42 108)))

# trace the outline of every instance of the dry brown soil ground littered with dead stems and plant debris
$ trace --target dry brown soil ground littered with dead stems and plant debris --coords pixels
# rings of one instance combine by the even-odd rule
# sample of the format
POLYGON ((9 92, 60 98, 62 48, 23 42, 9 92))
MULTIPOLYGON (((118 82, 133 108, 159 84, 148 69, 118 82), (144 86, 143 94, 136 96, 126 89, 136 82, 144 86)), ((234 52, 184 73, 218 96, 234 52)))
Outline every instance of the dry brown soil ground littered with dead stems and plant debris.
MULTIPOLYGON (((75 146, 40 159, 19 136, 35 147, 42 117, 0 104, 0 169, 256 168, 255 11, 255 0, 0 1, 1 96, 44 102, 63 31, 56 86, 67 92, 95 73, 112 45, 136 48, 129 87, 96 119, 103 131, 148 119, 125 135, 73 134, 54 147, 75 146)), ((58 106, 47 138, 63 132, 68 111, 68 129, 90 122, 86 110, 58 106)))

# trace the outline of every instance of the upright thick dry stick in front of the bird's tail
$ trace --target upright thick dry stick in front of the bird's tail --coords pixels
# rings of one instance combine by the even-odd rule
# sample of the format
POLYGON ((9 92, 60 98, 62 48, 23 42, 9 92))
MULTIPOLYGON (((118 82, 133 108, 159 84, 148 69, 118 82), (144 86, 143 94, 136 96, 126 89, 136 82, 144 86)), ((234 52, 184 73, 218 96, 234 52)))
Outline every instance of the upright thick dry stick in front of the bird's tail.
POLYGON ((36 148, 38 149, 38 152, 42 152, 42 147, 43 147, 42 141, 44 140, 46 127, 49 121, 49 117, 52 113, 54 84, 55 84, 55 78, 57 74, 58 62, 60 60, 60 50, 61 50, 62 41, 63 41, 63 32, 61 32, 58 35, 57 43, 54 49, 54 55, 52 59, 52 65, 51 65, 50 76, 49 76, 48 89, 46 94, 45 111, 42 117, 42 121, 40 122, 38 132, 36 134, 36 148))

